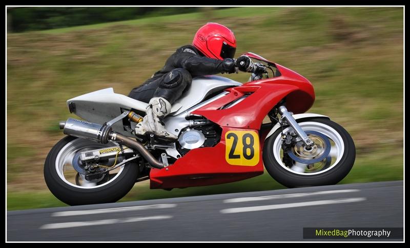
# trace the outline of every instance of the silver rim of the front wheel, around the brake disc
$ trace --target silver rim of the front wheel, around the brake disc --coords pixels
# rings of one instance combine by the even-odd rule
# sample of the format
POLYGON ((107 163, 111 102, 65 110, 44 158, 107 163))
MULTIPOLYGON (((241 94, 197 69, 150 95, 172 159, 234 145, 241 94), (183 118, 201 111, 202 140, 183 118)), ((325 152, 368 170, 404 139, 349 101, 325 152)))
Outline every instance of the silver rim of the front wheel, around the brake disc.
MULTIPOLYGON (((298 162, 296 162, 291 168, 289 168, 282 162, 282 138, 281 135, 278 135, 273 144, 273 154, 275 156, 275 160, 279 163, 279 165, 282 166, 285 170, 288 170, 292 173, 306 176, 318 175, 326 171, 329 171, 333 169, 335 166, 337 166, 344 154, 344 142, 340 134, 331 126, 319 122, 300 122, 298 124, 303 130, 318 131, 320 133, 323 133, 327 138, 329 138, 329 140, 331 141, 331 150, 329 153, 332 157, 331 164, 328 168, 317 172, 306 172, 306 169, 308 169, 307 165, 298 162)), ((286 133, 290 130, 293 129, 291 127, 286 127, 283 129, 283 133, 286 133)))

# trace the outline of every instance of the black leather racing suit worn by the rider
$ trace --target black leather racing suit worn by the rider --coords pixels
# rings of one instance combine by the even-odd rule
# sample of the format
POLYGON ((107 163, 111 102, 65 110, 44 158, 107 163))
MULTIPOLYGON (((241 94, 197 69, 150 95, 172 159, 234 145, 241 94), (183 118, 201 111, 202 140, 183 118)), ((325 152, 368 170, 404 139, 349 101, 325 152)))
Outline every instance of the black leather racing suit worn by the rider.
POLYGON ((232 59, 208 58, 191 45, 183 46, 167 59, 161 70, 133 88, 128 96, 146 103, 153 97, 163 97, 173 104, 191 85, 193 77, 234 71, 232 59))

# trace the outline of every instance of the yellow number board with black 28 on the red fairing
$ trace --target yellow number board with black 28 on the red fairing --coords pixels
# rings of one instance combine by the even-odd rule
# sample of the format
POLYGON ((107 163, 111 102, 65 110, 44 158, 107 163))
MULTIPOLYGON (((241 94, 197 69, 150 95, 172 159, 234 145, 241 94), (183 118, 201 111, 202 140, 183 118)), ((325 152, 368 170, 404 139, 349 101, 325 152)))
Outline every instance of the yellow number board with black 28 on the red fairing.
POLYGON ((259 136, 255 131, 228 131, 225 159, 230 165, 255 166, 259 163, 259 136))

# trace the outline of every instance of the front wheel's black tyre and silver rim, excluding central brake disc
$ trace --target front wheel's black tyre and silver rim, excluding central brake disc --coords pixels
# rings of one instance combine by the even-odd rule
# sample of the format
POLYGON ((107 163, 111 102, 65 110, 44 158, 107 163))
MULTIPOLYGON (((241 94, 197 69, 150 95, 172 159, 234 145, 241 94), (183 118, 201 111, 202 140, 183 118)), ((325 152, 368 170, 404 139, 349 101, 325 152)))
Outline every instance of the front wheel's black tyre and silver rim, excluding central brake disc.
MULTIPOLYGON (((304 131, 320 132, 330 140, 329 156, 310 165, 294 160, 289 162, 289 159, 288 164, 285 164, 283 156, 287 154, 281 148, 282 130, 279 128, 265 140, 263 146, 263 164, 268 173, 288 188, 334 185, 340 182, 350 172, 356 158, 356 148, 350 134, 339 124, 323 118, 297 121, 304 131)), ((285 127, 283 133, 292 130, 291 127, 285 127)), ((320 140, 320 136, 317 139, 320 140)))

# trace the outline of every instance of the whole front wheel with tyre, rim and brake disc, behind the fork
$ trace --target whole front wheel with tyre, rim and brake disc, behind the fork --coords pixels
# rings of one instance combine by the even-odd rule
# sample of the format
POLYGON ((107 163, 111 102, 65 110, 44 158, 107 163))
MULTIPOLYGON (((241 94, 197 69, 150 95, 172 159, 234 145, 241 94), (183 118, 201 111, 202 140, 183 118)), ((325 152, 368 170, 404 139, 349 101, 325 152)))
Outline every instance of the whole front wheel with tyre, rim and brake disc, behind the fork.
MULTIPOLYGON (((297 121, 315 145, 305 148, 300 139, 294 139, 289 146, 283 146, 279 128, 263 146, 263 164, 269 174, 288 188, 340 182, 355 162, 356 148, 350 134, 328 119, 297 121)), ((289 126, 283 128, 284 135, 292 132, 289 126)))

